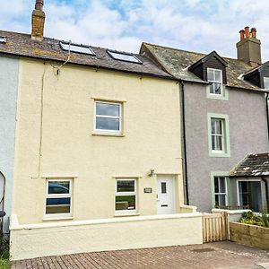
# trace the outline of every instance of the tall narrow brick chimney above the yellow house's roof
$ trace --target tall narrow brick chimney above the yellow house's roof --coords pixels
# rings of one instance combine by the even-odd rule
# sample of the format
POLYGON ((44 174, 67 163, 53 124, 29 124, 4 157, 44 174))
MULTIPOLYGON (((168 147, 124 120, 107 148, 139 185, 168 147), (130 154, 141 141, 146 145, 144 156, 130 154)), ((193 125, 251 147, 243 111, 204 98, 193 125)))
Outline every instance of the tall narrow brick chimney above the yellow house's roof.
POLYGON ((43 0, 36 0, 35 9, 31 15, 31 39, 41 41, 44 36, 45 13, 43 0))

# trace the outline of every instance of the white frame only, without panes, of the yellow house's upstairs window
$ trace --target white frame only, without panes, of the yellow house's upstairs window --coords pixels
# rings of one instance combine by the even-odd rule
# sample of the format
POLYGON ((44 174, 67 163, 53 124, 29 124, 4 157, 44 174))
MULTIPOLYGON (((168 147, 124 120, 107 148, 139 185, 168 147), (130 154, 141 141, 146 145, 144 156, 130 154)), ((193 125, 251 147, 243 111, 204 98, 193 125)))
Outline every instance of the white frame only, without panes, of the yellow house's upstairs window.
POLYGON ((94 134, 123 134, 123 102, 122 101, 114 101, 114 100, 97 100, 94 99, 94 105, 93 105, 93 133, 94 134), (117 105, 119 106, 119 116, 105 116, 105 115, 99 115, 96 114, 96 108, 97 108, 97 103, 102 103, 102 104, 109 104, 109 105, 117 105), (107 129, 97 129, 96 128, 96 117, 106 117, 106 118, 116 118, 119 119, 119 130, 107 130, 107 129))

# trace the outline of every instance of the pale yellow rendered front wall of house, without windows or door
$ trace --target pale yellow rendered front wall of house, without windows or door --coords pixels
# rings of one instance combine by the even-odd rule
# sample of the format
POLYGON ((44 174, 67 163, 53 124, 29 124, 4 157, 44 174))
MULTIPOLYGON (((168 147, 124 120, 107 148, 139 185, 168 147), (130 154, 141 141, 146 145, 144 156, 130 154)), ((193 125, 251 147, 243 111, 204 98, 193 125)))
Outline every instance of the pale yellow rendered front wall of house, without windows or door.
POLYGON ((65 65, 57 75, 53 65, 20 61, 13 182, 20 223, 43 221, 47 177, 76 177, 74 221, 114 217, 113 177, 141 177, 138 213, 155 214, 157 177, 148 177, 150 169, 176 175, 180 212, 178 83, 78 65, 65 65), (124 101, 123 137, 92 135, 94 98, 124 101))

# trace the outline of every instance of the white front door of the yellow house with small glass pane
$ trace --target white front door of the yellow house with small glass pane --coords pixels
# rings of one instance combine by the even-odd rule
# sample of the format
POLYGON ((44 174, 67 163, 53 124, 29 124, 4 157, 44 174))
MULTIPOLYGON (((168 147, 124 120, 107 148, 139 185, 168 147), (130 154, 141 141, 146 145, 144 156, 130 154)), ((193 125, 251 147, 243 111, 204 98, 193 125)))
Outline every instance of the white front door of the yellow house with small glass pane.
POLYGON ((175 213, 174 176, 164 175, 157 177, 157 213, 175 213))

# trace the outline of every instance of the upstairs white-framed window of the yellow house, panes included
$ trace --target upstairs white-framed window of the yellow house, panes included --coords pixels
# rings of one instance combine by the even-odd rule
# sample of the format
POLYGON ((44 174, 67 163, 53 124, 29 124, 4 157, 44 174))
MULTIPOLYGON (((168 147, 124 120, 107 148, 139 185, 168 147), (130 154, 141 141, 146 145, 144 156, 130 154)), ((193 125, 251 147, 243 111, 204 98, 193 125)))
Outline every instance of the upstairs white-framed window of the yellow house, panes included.
POLYGON ((122 132, 122 103, 96 100, 94 130, 120 134, 122 132))

